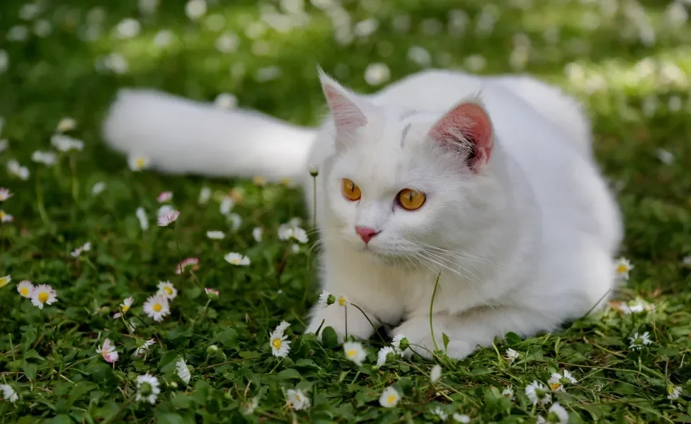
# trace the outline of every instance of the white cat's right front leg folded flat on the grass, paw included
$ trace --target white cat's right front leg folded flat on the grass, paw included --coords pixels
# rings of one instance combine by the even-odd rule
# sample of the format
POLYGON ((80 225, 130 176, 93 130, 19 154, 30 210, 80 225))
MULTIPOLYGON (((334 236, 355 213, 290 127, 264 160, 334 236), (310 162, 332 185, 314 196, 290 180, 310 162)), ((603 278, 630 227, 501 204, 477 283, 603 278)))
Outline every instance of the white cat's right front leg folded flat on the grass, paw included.
MULTIPOLYGON (((446 334, 449 337, 446 353, 459 360, 479 347, 491 346, 495 336, 502 338, 509 331, 520 335, 535 334, 554 325, 534 310, 517 307, 469 311, 460 316, 438 313, 432 315, 432 323, 438 348, 444 350, 442 334, 446 334)), ((406 336, 411 349, 425 358, 431 358, 435 350, 429 315, 408 319, 393 329, 391 334, 406 336)), ((405 354, 412 355, 411 349, 406 350, 405 354)))

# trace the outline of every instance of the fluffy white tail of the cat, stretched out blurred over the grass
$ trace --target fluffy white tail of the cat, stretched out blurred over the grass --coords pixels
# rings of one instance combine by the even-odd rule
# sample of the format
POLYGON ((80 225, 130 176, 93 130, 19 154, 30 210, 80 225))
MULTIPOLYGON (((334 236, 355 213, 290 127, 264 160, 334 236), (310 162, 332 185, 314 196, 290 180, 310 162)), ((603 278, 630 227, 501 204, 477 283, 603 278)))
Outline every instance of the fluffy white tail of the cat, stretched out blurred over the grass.
POLYGON ((116 151, 144 155, 161 172, 295 182, 307 174, 316 134, 249 110, 130 89, 118 93, 103 133, 116 151))

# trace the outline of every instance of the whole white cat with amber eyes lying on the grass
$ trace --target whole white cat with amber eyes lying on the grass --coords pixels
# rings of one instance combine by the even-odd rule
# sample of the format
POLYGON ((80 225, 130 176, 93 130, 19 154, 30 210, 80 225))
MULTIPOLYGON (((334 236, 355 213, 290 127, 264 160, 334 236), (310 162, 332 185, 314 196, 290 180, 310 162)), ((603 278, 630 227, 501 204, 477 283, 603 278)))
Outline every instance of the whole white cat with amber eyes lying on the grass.
MULTIPOLYGON (((438 273, 434 335, 454 358, 603 305, 622 224, 574 100, 526 76, 424 71, 374 95, 319 76, 331 112, 320 129, 122 90, 105 139, 162 172, 309 188, 318 167, 321 285, 368 317, 348 307, 349 335, 393 324, 429 357, 438 273)), ((343 336, 345 308, 315 307, 308 331, 320 326, 343 336)))

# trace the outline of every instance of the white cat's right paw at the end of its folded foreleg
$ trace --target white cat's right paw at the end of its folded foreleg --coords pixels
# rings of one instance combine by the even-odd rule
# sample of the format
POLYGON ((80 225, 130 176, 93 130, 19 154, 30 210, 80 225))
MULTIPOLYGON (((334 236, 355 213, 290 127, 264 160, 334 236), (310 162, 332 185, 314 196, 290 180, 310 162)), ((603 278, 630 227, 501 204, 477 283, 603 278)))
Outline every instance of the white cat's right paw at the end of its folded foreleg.
MULTIPOLYGON (((435 341, 440 351, 444 351, 442 333, 442 329, 434 329, 435 341)), ((404 356, 409 358, 414 352, 421 355, 423 358, 432 358, 433 352, 435 351, 435 343, 432 340, 429 319, 409 319, 391 331, 391 334, 392 336, 403 334, 408 340, 410 347, 404 351, 404 356)), ((446 347, 446 355, 450 358, 461 360, 473 353, 475 348, 471 343, 463 341, 462 338, 457 338, 458 334, 453 334, 453 336, 455 337, 451 337, 450 335, 449 344, 446 347)))

